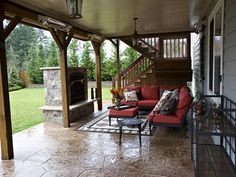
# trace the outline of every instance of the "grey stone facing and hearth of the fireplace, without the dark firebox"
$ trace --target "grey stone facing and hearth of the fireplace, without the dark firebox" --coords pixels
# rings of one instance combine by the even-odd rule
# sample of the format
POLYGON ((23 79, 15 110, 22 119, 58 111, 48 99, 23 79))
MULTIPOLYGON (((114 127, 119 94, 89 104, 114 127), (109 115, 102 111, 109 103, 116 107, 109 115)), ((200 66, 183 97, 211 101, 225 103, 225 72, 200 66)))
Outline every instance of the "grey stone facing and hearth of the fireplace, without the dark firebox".
MULTIPOLYGON (((60 68, 47 67, 41 69, 43 70, 45 105, 40 109, 43 111, 44 120, 46 122, 62 125, 63 114, 60 68)), ((85 100, 70 105, 70 123, 79 120, 81 117, 91 115, 94 112, 94 101, 96 100, 85 100)))

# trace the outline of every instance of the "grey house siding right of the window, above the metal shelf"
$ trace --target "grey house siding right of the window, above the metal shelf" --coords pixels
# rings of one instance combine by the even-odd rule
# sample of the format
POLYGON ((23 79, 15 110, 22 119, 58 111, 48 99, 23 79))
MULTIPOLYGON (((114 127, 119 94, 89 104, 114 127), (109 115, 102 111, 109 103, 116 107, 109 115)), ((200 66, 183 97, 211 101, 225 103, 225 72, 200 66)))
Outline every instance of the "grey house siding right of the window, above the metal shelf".
POLYGON ((223 94, 236 102, 236 1, 225 1, 223 94))

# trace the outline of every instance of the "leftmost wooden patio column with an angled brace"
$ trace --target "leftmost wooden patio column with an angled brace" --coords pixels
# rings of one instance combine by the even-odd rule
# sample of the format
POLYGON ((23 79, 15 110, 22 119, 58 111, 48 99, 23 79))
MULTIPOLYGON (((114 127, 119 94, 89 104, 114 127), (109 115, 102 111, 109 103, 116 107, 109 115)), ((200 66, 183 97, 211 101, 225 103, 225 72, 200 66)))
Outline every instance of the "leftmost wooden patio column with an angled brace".
POLYGON ((0 139, 3 160, 14 157, 12 143, 11 113, 8 92, 7 62, 5 39, 21 20, 15 17, 4 29, 4 0, 0 0, 0 139))

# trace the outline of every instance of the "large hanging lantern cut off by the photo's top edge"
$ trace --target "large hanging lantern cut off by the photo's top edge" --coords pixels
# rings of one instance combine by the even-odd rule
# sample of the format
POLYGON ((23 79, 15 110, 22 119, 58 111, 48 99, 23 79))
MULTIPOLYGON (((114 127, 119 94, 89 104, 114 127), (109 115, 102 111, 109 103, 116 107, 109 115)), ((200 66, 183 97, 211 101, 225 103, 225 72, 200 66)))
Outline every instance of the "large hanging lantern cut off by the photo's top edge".
POLYGON ((82 4, 83 0, 66 0, 70 18, 82 18, 82 4))

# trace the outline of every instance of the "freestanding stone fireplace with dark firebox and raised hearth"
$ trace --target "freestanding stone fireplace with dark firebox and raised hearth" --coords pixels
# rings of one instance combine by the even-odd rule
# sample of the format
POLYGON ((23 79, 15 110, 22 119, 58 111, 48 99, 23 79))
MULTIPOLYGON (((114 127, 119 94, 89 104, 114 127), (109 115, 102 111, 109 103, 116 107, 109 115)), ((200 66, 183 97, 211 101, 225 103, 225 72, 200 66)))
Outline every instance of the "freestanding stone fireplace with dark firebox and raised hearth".
MULTIPOLYGON (((42 68, 44 80, 45 105, 44 120, 63 124, 61 73, 59 67, 42 68)), ((88 99, 87 69, 84 67, 68 68, 68 100, 70 103, 70 123, 94 112, 96 99, 88 99)))

